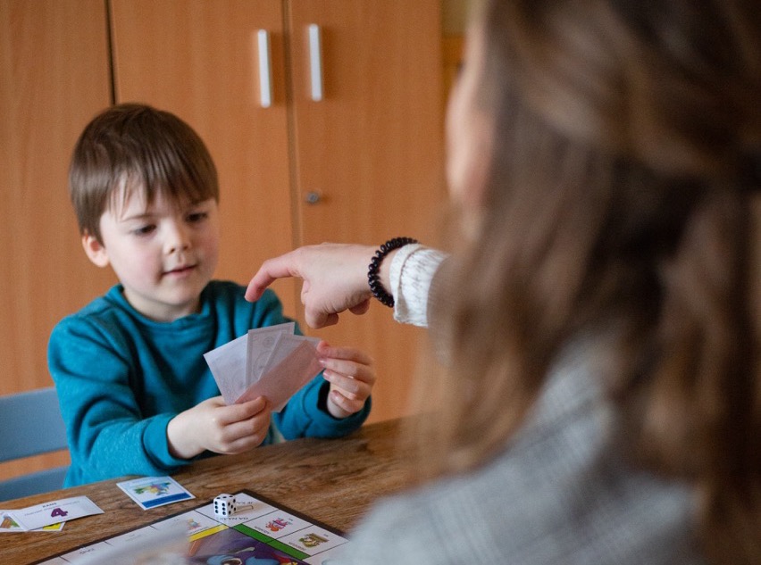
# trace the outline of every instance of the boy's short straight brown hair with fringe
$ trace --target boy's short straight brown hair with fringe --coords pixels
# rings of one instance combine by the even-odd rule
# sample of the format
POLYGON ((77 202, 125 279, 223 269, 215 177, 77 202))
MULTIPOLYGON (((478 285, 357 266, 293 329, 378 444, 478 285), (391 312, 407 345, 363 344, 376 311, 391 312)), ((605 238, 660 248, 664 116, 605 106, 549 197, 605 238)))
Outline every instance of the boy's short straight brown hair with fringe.
POLYGON ((128 198, 135 189, 145 190, 147 204, 160 193, 172 202, 219 202, 212 156, 187 123, 146 104, 117 104, 89 122, 71 156, 69 193, 80 234, 103 243, 101 216, 116 195, 128 198))

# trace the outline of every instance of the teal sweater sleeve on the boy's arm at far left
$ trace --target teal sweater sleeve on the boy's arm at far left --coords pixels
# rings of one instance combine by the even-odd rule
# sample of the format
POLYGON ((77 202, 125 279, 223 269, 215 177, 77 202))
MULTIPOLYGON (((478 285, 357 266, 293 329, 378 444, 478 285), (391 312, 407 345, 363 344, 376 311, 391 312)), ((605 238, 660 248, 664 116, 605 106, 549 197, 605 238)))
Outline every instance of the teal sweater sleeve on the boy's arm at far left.
POLYGON ((71 452, 66 486, 122 475, 165 475, 187 463, 169 453, 171 414, 143 418, 130 384, 130 345, 72 316, 54 328, 48 365, 71 452))

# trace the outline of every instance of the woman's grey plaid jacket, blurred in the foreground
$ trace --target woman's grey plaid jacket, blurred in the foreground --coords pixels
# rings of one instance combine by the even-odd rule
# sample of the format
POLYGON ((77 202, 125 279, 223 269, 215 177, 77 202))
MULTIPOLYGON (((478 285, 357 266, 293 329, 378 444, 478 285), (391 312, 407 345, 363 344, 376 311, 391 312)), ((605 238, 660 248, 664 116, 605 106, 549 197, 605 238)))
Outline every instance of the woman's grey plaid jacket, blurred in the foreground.
MULTIPOLYGON (((405 270, 409 260, 399 259, 405 270)), ((592 359, 578 345, 564 356, 492 461, 380 501, 337 563, 703 563, 694 494, 627 461, 592 359)))

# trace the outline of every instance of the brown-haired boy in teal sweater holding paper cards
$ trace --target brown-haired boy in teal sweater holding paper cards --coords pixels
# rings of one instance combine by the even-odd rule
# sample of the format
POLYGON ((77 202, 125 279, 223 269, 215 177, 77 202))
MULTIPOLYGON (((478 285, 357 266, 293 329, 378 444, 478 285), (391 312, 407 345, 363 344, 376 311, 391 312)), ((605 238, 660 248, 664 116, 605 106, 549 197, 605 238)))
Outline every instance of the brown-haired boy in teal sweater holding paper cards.
POLYGON ((225 405, 203 354, 289 321, 270 293, 212 280, 219 188, 211 155, 169 112, 121 104, 79 137, 71 202, 82 245, 119 284, 63 319, 48 364, 69 437, 66 486, 165 475, 276 437, 343 436, 370 411, 372 361, 321 343, 325 370, 272 414, 266 398, 225 405), (325 381, 329 382, 325 382, 325 381))

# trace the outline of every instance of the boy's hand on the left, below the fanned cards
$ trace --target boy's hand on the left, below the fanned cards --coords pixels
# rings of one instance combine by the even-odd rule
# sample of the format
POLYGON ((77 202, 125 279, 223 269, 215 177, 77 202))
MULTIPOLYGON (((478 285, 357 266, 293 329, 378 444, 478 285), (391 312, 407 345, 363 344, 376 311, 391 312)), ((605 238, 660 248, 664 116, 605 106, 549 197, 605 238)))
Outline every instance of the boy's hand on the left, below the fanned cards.
POLYGON ((166 428, 170 453, 190 459, 205 450, 232 455, 261 445, 270 428, 272 406, 263 396, 247 403, 224 403, 215 396, 180 412, 166 428))

